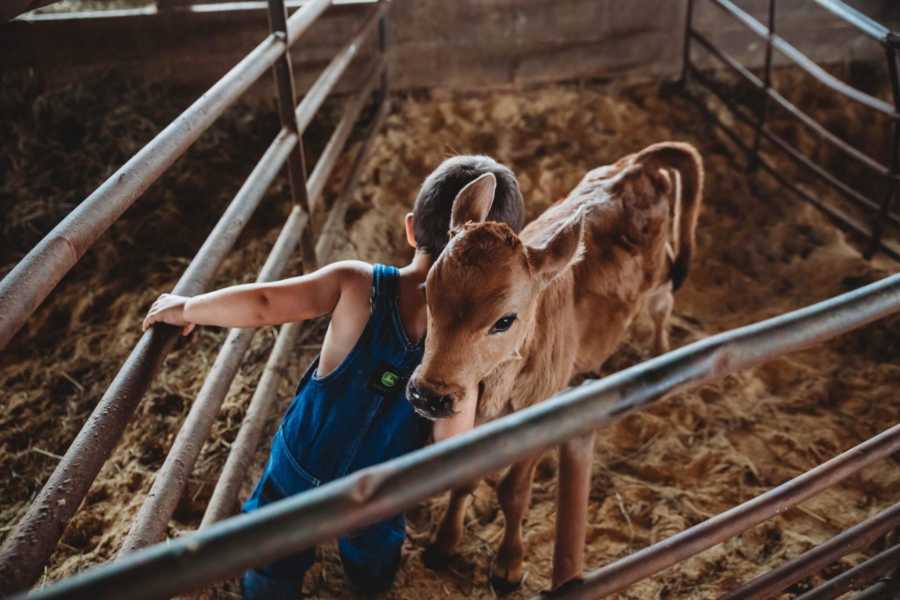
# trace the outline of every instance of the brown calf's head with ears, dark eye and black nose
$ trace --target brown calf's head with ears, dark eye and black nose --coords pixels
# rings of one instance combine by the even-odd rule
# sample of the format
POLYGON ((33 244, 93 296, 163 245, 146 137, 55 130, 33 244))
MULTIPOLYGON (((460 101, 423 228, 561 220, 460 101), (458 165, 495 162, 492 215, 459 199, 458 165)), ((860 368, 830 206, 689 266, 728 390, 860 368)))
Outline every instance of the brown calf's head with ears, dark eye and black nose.
POLYGON ((432 420, 458 413, 474 419, 485 378, 521 358, 527 337, 540 326, 534 320, 541 291, 580 247, 580 214, 535 245, 523 243, 506 224, 485 222, 495 186, 488 173, 459 192, 450 242, 426 280, 425 354, 407 397, 432 420))

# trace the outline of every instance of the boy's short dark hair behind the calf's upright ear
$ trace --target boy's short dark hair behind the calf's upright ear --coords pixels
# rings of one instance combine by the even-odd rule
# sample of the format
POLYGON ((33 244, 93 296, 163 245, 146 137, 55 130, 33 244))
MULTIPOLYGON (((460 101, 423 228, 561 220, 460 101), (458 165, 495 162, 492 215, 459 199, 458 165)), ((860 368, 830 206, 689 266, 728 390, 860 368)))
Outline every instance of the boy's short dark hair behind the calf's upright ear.
POLYGON ((497 178, 494 204, 487 220, 506 223, 519 233, 525 221, 525 202, 513 172, 489 156, 454 156, 425 179, 416 197, 413 207, 416 248, 438 257, 449 241, 453 200, 466 184, 485 173, 493 173, 497 178))

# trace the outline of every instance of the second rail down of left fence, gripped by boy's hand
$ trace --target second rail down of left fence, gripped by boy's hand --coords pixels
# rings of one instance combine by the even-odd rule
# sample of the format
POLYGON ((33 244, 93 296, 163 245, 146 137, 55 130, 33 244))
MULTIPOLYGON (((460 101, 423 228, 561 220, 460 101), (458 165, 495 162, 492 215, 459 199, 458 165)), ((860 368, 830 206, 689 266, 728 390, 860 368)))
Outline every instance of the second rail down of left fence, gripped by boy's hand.
MULTIPOLYGON (((297 139, 284 130, 275 137, 178 280, 175 294, 191 296, 206 288, 297 139)), ((23 589, 40 576, 176 334, 177 329, 168 326, 145 332, 119 369, 63 460, 0 548, 0 593, 23 589)))

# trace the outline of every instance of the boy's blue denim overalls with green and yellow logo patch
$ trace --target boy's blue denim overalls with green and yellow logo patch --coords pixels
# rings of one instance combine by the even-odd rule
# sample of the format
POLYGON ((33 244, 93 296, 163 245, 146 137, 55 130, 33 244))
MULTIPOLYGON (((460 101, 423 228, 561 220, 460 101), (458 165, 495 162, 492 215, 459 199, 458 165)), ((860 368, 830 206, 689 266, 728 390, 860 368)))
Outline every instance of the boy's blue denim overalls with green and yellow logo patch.
MULTIPOLYGON (((372 314, 350 354, 318 377, 313 361, 288 408, 265 471, 244 503, 248 512, 353 471, 400 456, 427 441, 430 423, 413 412, 404 392, 422 359, 422 343, 409 340, 400 319, 395 267, 375 265, 372 314)), ((393 581, 405 537, 396 515, 338 540, 344 571, 367 592, 393 581)), ((297 597, 315 550, 247 571, 244 598, 297 597)))

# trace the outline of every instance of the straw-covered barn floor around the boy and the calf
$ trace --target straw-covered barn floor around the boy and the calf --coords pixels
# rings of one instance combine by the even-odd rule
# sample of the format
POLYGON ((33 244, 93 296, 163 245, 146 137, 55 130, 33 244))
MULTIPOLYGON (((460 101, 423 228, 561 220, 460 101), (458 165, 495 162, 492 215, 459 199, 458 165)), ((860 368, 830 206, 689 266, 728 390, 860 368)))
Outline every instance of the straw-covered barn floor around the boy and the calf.
MULTIPOLYGON (((11 167, 12 175, 0 188, 3 214, 13 214, 8 211, 15 205, 20 216, 16 224, 4 225, 9 242, 0 263, 11 264, 40 231, 47 230, 42 218, 52 223, 66 209, 41 198, 62 197, 65 192, 70 202, 77 201, 184 106, 173 104, 172 98, 179 96, 167 90, 121 85, 119 98, 103 101, 110 110, 96 107, 96 114, 83 125, 66 124, 65 106, 71 107, 79 97, 95 101, 91 95, 102 87, 82 86, 55 100, 45 99, 38 105, 43 112, 29 117, 34 119, 32 125, 44 127, 39 129, 43 141, 29 141, 26 125, 14 132, 18 141, 2 149, 0 160, 11 167), (134 101, 133 112, 123 97, 134 101), (71 137, 66 132, 76 125, 81 127, 77 138, 66 141, 67 135, 71 137), (139 139, 121 135, 135 128, 139 139), (81 151, 104 147, 111 139, 116 147, 102 157, 81 151), (38 156, 49 157, 43 170, 32 164, 38 156), (29 229, 33 222, 38 224, 29 229)), ((818 108, 816 114, 826 122, 866 126, 852 107, 820 103, 818 108)), ((333 126, 336 110, 332 106, 326 111, 326 118, 310 132, 314 153, 321 147, 320 138, 325 139, 323 132, 333 126)), ((4 355, 0 465, 9 475, 0 479, 3 535, 46 480, 54 455, 65 451, 127 355, 147 306, 177 279, 185 257, 199 246, 275 127, 271 110, 230 111, 89 253, 51 297, 52 307, 39 311, 21 342, 4 355), (170 242, 153 244, 156 239, 170 242)), ((799 143, 811 143, 788 125, 781 132, 799 143)), ((865 129, 846 133, 867 139, 880 135, 865 129)), ((764 175, 748 176, 740 166, 741 157, 702 123, 692 105, 649 85, 585 84, 396 98, 348 213, 340 256, 405 261, 402 215, 424 177, 450 154, 488 153, 512 167, 533 217, 563 197, 589 168, 666 139, 697 144, 708 170, 699 254, 676 297, 676 345, 808 305, 898 270, 898 264, 886 258, 864 260, 855 243, 815 209, 764 175)), ((337 179, 344 176, 340 172, 337 179)), ((285 183, 279 181, 239 242, 240 251, 223 266, 217 285, 255 276, 287 201, 285 183)), ((645 333, 637 327, 634 339, 605 370, 649 357, 645 333)), ((45 580, 115 555, 223 338, 220 331, 200 331, 166 360, 123 442, 66 531, 45 580)), ((199 522, 273 340, 273 329, 256 336, 171 524, 171 535, 199 522)), ((314 342, 315 338, 308 339, 298 348, 289 379, 295 380, 313 358, 314 342)), ((282 408, 292 386, 293 381, 285 381, 282 408)), ((900 318, 893 318, 813 350, 674 394, 601 431, 589 510, 589 566, 599 567, 665 539, 884 430, 900 420, 898 390, 900 318)), ((879 463, 620 597, 717 597, 891 505, 898 495, 896 459, 879 463)), ((554 496, 555 462, 548 456, 539 468, 526 520, 526 579, 511 598, 528 598, 548 586, 554 496)), ((503 518, 492 484, 483 483, 476 493, 458 560, 436 573, 424 567, 421 555, 445 501, 433 499, 409 513, 404 564, 386 598, 495 597, 488 584, 488 566, 503 518)), ((334 547, 326 545, 320 554, 323 560, 307 577, 304 597, 352 597, 334 547)), ((863 558, 864 554, 851 554, 827 572, 834 574, 863 558)), ((818 581, 804 581, 784 597, 818 581)), ((237 586, 227 582, 204 595, 237 597, 237 586)))

